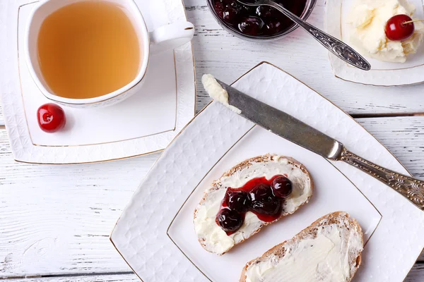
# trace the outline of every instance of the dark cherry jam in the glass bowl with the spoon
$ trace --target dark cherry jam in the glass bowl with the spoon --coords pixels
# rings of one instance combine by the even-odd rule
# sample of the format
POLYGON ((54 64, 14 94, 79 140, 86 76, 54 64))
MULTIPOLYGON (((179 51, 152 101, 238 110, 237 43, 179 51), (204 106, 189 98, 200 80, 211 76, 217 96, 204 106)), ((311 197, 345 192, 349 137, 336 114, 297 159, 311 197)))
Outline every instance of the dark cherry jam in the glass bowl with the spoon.
MULTIPOLYGON (((296 16, 301 16, 307 0, 275 0, 296 16)), ((278 35, 292 27, 293 21, 269 6, 245 6, 236 0, 213 0, 216 14, 245 35, 278 35)))

